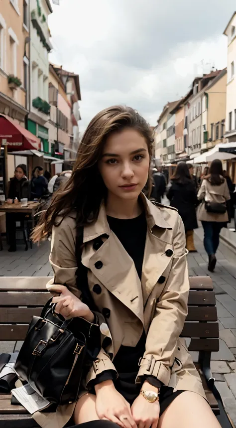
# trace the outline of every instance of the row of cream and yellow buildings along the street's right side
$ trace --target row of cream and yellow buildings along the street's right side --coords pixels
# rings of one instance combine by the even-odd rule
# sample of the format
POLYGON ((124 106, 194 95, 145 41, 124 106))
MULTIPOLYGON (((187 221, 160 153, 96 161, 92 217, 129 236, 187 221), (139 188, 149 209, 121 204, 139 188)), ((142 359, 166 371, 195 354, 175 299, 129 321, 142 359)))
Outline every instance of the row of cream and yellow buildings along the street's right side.
MULTIPOLYGON (((162 164, 193 161, 218 143, 236 142, 236 12, 224 34, 227 68, 196 77, 185 97, 167 103, 157 120, 155 158, 162 164)), ((236 163, 230 166, 236 179, 236 163)))

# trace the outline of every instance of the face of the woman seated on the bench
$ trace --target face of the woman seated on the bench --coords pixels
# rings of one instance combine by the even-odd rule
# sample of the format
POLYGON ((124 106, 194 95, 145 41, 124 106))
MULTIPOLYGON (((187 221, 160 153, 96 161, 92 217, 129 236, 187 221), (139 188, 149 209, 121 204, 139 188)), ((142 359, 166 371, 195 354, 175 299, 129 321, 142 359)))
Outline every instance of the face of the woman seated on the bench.
POLYGON ((146 140, 134 129, 108 137, 99 171, 110 195, 137 199, 147 182, 149 162, 146 140))

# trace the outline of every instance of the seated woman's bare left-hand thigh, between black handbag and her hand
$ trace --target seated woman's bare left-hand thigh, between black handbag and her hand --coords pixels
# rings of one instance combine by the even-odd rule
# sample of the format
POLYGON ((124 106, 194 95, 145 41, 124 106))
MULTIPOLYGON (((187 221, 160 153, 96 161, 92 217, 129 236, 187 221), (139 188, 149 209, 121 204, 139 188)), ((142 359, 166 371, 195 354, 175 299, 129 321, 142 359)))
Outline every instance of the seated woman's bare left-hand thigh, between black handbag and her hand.
POLYGON ((83 424, 83 422, 91 422, 99 419, 96 408, 96 395, 85 394, 76 403, 73 419, 75 424, 83 424))

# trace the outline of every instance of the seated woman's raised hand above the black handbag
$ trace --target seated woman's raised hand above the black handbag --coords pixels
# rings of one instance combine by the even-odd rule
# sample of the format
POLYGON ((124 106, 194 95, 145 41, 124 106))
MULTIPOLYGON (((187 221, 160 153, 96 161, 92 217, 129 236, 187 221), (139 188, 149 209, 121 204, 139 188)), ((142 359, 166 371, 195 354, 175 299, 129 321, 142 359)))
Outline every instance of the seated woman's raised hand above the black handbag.
POLYGON ((89 322, 94 322, 94 314, 91 312, 87 304, 76 297, 64 285, 51 285, 48 287, 49 291, 56 291, 60 293, 59 297, 53 297, 52 303, 57 303, 55 312, 64 316, 65 319, 75 318, 80 316, 89 322))

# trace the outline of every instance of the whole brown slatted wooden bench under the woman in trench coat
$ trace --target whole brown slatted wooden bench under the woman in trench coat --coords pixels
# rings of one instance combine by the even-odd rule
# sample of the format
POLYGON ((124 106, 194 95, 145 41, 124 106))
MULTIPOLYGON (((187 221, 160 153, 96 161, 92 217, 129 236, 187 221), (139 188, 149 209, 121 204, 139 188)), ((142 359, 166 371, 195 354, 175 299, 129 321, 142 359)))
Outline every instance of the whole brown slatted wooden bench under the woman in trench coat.
MULTIPOLYGON (((40 315, 50 294, 49 277, 0 278, 0 340, 24 340, 33 315, 40 315)), ((210 277, 190 277, 188 316, 182 336, 191 338, 189 351, 199 352, 195 363, 207 399, 223 428, 232 428, 224 408, 211 388, 211 352, 219 350, 219 324, 215 293, 210 277)), ((0 395, 0 428, 35 428, 37 424, 21 407, 10 404, 10 394, 0 395)))

